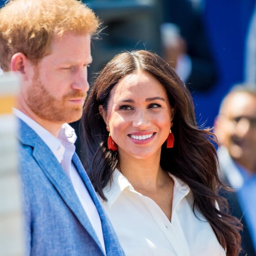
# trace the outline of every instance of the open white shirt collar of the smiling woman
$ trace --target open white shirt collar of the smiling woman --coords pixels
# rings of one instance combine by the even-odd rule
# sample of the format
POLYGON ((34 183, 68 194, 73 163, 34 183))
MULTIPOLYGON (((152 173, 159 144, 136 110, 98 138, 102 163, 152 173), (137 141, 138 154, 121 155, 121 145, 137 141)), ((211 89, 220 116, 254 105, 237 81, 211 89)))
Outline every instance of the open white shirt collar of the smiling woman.
MULTIPOLYGON (((174 188, 173 188, 173 209, 176 205, 182 200, 182 198, 188 195, 190 189, 186 183, 178 179, 177 177, 173 176, 169 173, 169 176, 172 177, 174 181, 174 188)), ((118 199, 121 193, 124 190, 135 191, 132 187, 130 182, 127 180, 126 177, 118 169, 115 169, 113 172, 113 180, 103 189, 103 193, 107 199, 106 205, 107 207, 112 207, 113 203, 118 199)), ((138 193, 139 194, 139 193, 138 193)))

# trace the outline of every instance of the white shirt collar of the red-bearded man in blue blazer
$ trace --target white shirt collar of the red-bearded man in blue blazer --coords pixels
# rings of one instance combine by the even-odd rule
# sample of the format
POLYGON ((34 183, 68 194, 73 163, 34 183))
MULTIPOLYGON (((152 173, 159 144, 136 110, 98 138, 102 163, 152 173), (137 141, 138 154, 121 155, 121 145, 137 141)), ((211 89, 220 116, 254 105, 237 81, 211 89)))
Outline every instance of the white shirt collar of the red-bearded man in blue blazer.
POLYGON ((77 136, 75 134, 75 130, 69 124, 62 124, 58 138, 56 138, 53 136, 53 134, 20 110, 13 108, 13 113, 38 134, 38 136, 45 142, 59 162, 61 162, 63 159, 65 148, 70 144, 75 143, 77 136))

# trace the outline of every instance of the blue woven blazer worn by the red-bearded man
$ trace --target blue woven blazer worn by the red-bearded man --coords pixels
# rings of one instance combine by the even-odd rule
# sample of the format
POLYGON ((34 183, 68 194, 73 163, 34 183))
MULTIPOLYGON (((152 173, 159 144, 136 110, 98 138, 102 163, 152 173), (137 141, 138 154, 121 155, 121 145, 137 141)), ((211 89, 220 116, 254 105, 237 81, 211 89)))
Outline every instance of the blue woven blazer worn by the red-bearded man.
MULTIPOLYGON (((18 137, 26 255, 105 255, 71 182, 52 151, 20 119, 18 137)), ((98 209, 106 255, 124 255, 109 218, 76 154, 72 161, 98 209)))

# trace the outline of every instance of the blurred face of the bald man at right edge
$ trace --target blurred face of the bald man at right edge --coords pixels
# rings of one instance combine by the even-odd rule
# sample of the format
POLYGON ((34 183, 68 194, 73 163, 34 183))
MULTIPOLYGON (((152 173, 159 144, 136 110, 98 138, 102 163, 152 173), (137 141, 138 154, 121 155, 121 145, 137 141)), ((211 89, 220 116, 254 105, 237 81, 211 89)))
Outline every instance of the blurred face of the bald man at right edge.
POLYGON ((254 161, 256 155, 256 97, 237 92, 231 94, 215 125, 219 143, 242 166, 254 161))

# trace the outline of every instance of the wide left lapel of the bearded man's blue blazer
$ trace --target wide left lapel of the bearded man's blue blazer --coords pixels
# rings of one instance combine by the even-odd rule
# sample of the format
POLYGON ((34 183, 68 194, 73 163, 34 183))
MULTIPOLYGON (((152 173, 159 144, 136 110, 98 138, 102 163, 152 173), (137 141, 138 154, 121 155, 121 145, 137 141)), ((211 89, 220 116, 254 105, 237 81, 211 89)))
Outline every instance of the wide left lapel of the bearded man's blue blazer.
POLYGON ((19 129, 18 135, 20 141, 33 148, 33 156, 43 173, 45 173, 45 176, 53 184, 64 202, 78 218, 90 236, 95 240, 98 246, 102 248, 98 236, 96 235, 71 182, 53 152, 49 150, 49 147, 47 147, 36 132, 22 120, 20 120, 20 125, 21 128, 19 129))

